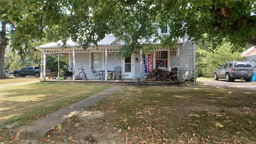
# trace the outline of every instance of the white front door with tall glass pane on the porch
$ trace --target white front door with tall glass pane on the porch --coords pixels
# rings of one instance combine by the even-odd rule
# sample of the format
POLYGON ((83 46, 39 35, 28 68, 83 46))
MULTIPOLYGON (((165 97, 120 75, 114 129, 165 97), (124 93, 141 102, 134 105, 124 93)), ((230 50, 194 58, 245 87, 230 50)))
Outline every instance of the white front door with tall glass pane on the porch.
POLYGON ((122 74, 128 74, 126 78, 132 78, 133 72, 133 61, 132 57, 128 57, 122 60, 122 74))

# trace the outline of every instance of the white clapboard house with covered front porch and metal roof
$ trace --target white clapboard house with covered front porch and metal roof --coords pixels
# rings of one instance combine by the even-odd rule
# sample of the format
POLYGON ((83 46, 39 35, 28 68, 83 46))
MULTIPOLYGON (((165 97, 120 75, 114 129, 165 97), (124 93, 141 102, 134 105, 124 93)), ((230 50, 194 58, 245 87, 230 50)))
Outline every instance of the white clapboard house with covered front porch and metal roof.
MULTIPOLYGON (((167 26, 163 28, 159 28, 159 34, 168 34, 167 26), (166 30, 163 30, 163 28, 166 28, 166 30)), ((152 37, 152 40, 154 40, 154 37, 152 37)), ((41 45, 37 49, 41 51, 42 58, 47 54, 67 55, 69 63, 74 63, 75 75, 80 72, 78 68, 84 66, 83 68, 89 79, 93 78, 90 70, 91 66, 99 71, 114 70, 115 66, 121 66, 122 74, 128 74, 126 78, 139 77, 143 71, 150 72, 154 68, 169 70, 175 67, 178 70, 177 79, 179 82, 187 80, 194 80, 195 82, 195 44, 188 40, 188 36, 180 38, 176 46, 172 48, 155 48, 149 51, 148 54, 132 54, 131 57, 126 59, 117 55, 123 45, 124 42, 120 41, 119 38, 106 35, 103 40, 98 42, 98 49, 94 46, 89 46, 86 50, 82 47, 78 48, 78 44, 72 40, 67 41, 66 48, 62 47, 62 42, 59 40, 58 42, 41 45)), ((107 81, 107 79, 106 77, 105 80, 107 81)), ((73 81, 75 81, 74 78, 73 81)))

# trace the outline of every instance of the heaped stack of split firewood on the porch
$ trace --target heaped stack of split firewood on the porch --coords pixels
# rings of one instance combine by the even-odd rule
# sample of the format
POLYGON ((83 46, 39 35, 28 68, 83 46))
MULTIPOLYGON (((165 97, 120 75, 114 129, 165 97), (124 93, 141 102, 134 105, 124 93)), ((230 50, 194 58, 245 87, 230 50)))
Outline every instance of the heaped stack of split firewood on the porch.
POLYGON ((168 70, 155 68, 148 74, 147 81, 174 82, 176 78, 168 70))

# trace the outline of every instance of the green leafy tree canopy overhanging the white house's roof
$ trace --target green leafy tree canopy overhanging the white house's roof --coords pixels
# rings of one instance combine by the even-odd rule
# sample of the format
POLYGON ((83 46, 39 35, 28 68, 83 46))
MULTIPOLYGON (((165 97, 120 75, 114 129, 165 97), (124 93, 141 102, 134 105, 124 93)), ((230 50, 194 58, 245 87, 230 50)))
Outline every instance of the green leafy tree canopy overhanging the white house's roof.
MULTIPOLYGON (((129 46, 123 56, 145 48, 138 40, 150 44, 157 28, 168 25, 170 35, 158 37, 162 46, 175 43, 188 34, 198 40, 234 44, 234 50, 250 43, 256 45, 256 2, 218 0, 36 0, 0 1, 1 20, 17 25, 12 47, 47 36, 57 41, 72 38, 87 48, 97 44, 105 34, 122 38, 129 46)), ((1 48, 2 49, 2 48, 1 48)), ((144 49, 143 49, 144 50, 144 49)))

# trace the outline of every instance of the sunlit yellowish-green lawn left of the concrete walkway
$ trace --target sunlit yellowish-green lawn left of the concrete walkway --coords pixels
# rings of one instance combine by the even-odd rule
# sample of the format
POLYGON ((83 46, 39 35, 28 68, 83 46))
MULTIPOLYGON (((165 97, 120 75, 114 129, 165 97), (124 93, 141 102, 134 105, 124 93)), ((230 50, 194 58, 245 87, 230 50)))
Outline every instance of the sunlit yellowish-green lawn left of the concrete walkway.
POLYGON ((0 126, 4 128, 13 123, 17 123, 17 126, 28 124, 31 120, 46 116, 110 86, 35 83, 1 88, 0 126))

